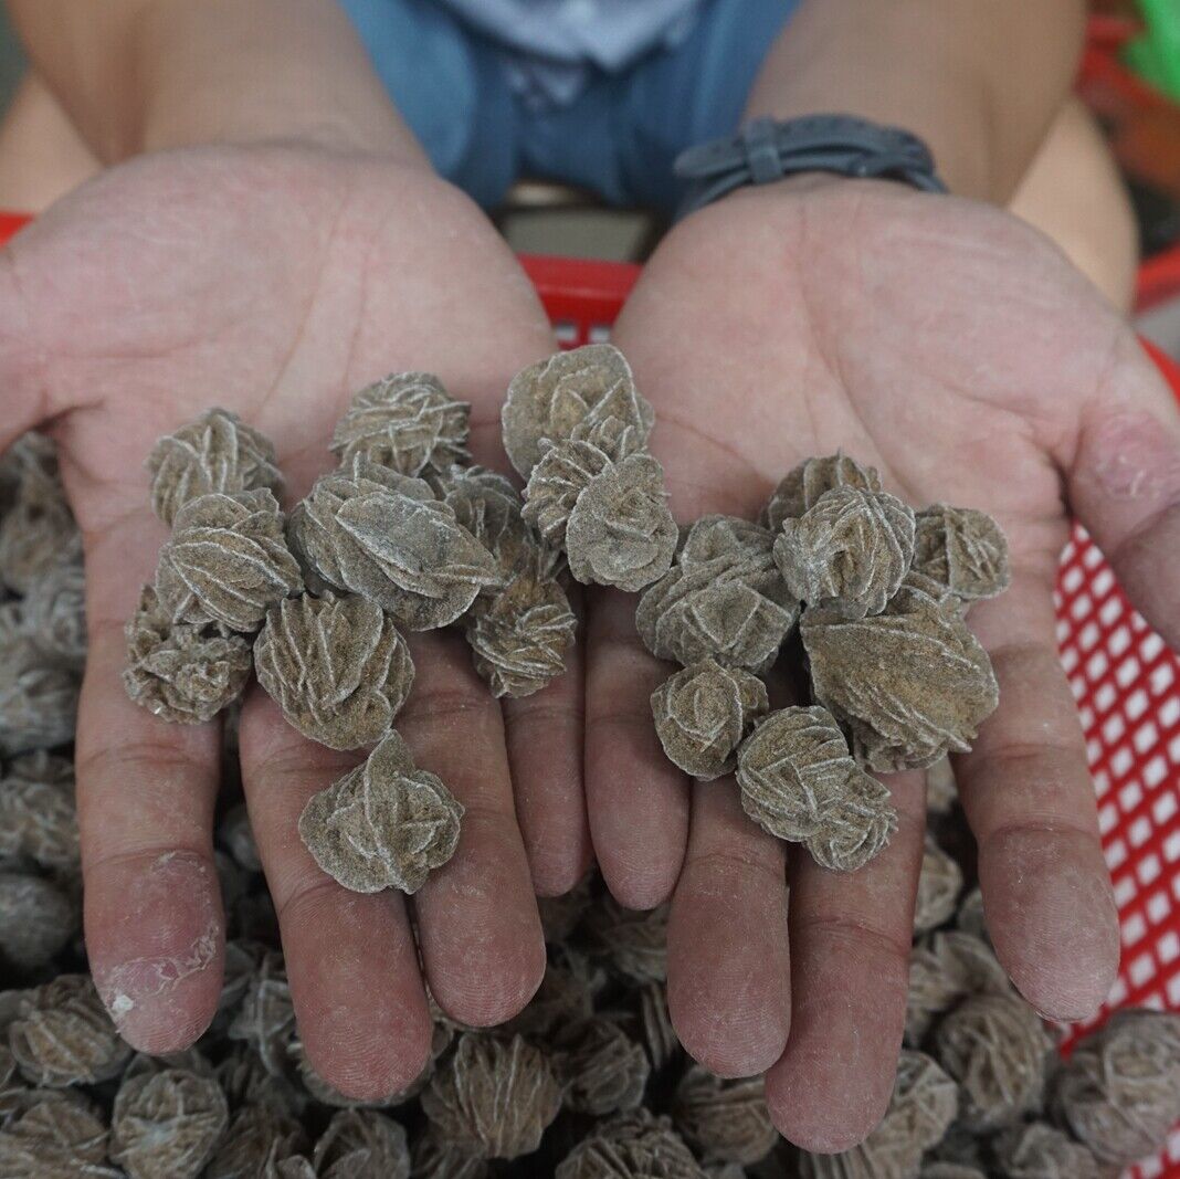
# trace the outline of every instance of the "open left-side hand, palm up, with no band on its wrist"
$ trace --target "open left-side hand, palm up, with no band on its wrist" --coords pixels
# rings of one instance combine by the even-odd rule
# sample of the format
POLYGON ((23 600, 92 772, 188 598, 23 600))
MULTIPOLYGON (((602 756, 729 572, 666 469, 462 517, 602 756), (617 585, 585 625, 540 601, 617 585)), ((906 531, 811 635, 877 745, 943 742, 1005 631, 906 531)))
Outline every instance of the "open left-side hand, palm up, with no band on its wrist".
MULTIPOLYGON (((224 406, 276 444, 289 507, 332 466, 327 443, 349 395, 413 368, 472 402, 477 461, 505 465, 504 389, 552 347, 527 280, 478 210, 417 168, 375 159, 293 146, 146 157, 0 253, 0 445, 51 428, 84 532, 86 942, 136 1047, 165 1053, 201 1034, 224 949, 210 858, 219 727, 165 725, 119 681, 123 624, 166 536, 148 506, 149 448, 224 406)), ((368 1098, 405 1087, 427 1059, 425 984, 472 1024, 529 1000, 544 969, 530 862, 537 890, 558 892, 589 859, 581 669, 502 709, 454 634, 417 635, 412 648, 418 677, 398 727, 466 807, 454 858, 412 902, 346 892, 297 836, 310 794, 359 758, 299 736, 257 689, 241 727, 301 1035, 328 1081, 368 1098)))

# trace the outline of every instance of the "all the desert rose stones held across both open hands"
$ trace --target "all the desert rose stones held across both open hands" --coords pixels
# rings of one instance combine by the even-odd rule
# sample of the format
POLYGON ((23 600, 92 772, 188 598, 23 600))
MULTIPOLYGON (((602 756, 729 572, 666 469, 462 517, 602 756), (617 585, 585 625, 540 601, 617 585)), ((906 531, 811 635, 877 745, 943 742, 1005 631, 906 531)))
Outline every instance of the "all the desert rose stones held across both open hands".
POLYGON ((964 752, 995 708, 964 622, 1008 582, 982 512, 914 513, 838 453, 791 471, 759 522, 681 530, 648 451, 655 413, 610 345, 510 385, 504 448, 523 494, 471 464, 467 412, 426 373, 362 389, 333 437, 339 466, 289 518, 273 446, 224 411, 149 460, 172 536, 127 628, 127 689, 203 721, 253 667, 306 736, 375 746, 300 823, 345 886, 413 892, 458 841, 461 806, 393 727, 414 677, 402 631, 460 627, 491 690, 527 695, 575 638, 565 576, 642 591, 643 642, 682 666, 651 700, 668 756, 702 780, 736 769, 747 813, 826 867, 861 866, 896 825, 867 771, 964 752), (772 712, 763 677, 796 625, 813 702, 772 712))

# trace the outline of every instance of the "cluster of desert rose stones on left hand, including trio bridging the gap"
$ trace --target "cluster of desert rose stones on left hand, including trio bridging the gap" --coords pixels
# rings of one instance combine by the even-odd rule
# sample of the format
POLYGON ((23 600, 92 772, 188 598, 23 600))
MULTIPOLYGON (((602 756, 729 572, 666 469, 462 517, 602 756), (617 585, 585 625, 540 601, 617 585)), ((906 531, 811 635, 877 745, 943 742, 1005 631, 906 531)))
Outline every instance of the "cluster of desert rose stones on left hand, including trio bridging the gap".
POLYGON ((401 631, 461 627, 497 696, 564 670, 576 620, 562 577, 637 590, 677 542, 654 414, 622 354, 595 345, 520 372, 505 448, 525 496, 467 450, 468 406, 398 373, 339 421, 339 466, 289 518, 273 445, 223 410, 162 438, 151 500, 172 533, 127 624, 124 680, 171 721, 206 721, 251 668, 287 720, 334 749, 375 746, 300 820, 349 889, 413 892, 458 843, 463 807, 393 729, 414 666, 401 631))

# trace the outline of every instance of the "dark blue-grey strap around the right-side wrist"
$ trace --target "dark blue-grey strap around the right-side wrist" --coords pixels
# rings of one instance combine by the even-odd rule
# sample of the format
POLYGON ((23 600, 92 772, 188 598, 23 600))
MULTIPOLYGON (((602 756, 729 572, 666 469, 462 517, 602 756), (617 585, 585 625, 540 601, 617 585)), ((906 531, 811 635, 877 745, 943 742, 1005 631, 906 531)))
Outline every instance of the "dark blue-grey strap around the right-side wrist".
POLYGON ((673 170, 689 182, 681 216, 745 184, 769 184, 796 172, 877 177, 924 192, 946 191, 922 139, 851 114, 753 119, 738 135, 682 151, 673 170))

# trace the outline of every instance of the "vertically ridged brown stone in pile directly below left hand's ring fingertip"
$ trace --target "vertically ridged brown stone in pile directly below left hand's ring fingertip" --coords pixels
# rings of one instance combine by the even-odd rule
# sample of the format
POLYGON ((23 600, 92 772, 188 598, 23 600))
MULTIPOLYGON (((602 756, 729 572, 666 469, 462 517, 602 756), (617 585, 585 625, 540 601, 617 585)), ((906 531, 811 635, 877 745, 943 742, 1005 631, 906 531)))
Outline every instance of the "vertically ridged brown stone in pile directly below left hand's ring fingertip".
POLYGON ((531 1154, 560 1106, 562 1086, 544 1053, 520 1036, 472 1031, 422 1093, 440 1139, 485 1159, 531 1154))

